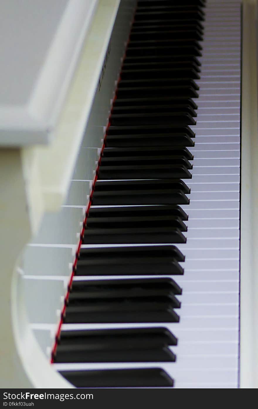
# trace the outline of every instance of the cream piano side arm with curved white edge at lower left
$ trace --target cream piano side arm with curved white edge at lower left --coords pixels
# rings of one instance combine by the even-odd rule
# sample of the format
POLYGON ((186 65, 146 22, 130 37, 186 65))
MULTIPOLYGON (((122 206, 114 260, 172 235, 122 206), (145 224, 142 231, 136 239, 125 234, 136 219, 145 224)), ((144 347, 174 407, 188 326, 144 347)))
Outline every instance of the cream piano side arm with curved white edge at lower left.
POLYGON ((71 388, 46 361, 26 316, 22 277, 16 266, 32 231, 19 149, 0 149, 0 174, 0 386, 71 388))

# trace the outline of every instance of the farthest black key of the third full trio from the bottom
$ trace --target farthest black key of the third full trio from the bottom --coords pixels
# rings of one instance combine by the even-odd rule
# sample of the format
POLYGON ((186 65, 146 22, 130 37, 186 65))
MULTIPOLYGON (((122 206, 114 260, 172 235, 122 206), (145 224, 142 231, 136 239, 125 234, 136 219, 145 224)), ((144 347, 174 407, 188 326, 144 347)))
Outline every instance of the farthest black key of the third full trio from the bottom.
MULTIPOLYGON (((188 151, 185 146, 163 146, 144 147, 144 148, 104 148, 102 157, 128 157, 128 156, 152 156, 153 153, 157 155, 181 155, 188 160, 193 160, 194 156, 188 151)), ((187 193, 187 192, 186 192, 187 193)), ((189 193, 189 192, 188 192, 189 193)))

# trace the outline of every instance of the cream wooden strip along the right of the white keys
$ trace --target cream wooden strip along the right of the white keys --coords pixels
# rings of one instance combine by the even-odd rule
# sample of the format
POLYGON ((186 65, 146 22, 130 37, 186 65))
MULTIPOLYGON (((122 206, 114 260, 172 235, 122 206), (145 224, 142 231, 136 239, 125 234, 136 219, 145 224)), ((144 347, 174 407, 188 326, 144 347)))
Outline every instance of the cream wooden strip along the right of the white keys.
POLYGON ((258 387, 257 0, 243 2, 240 231, 240 387, 258 387))

